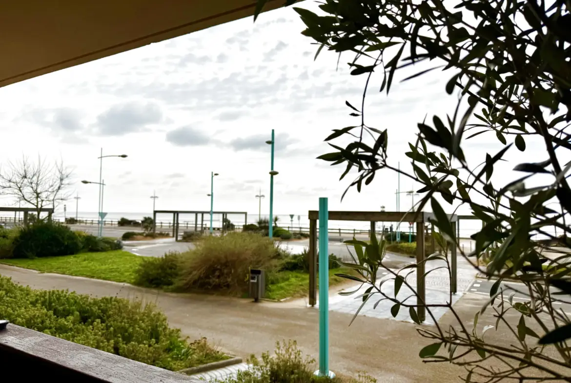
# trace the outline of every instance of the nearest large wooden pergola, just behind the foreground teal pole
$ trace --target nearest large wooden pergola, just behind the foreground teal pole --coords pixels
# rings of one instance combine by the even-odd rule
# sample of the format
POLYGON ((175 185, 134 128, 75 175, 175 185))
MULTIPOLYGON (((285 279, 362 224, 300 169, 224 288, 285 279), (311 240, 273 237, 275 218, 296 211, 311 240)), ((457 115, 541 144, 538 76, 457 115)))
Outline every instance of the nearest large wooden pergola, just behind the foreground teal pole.
MULTIPOLYGON (((317 220, 319 211, 310 210, 309 213, 309 304, 315 306, 317 303, 317 220)), ((452 230, 456 232, 457 215, 448 215, 451 220, 452 230)), ((431 212, 380 212, 380 211, 329 211, 330 221, 361 221, 371 223, 371 235, 375 234, 377 222, 411 222, 416 223, 416 292, 417 292, 417 313, 420 321, 426 319, 424 308, 426 300, 425 289, 425 249, 424 249, 424 225, 430 224, 434 227, 435 216, 431 212), (417 215, 417 216, 416 216, 417 215), (415 217, 416 216, 416 217, 415 217)), ((328 240, 328 239, 325 239, 328 240)), ((432 239, 434 241, 434 239, 432 239)), ((434 248, 434 242, 433 242, 434 248)), ((457 292, 457 259, 456 246, 452 246, 451 268, 452 277, 450 288, 453 293, 457 292)))

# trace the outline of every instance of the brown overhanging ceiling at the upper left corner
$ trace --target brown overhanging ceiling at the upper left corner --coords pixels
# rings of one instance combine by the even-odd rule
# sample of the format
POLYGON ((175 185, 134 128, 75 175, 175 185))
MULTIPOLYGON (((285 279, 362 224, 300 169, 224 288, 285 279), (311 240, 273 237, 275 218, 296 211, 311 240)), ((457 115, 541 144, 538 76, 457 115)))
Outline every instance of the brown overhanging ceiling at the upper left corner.
MULTIPOLYGON (((283 3, 270 0, 264 11, 283 3)), ((248 17, 255 5, 256 0, 0 0, 0 87, 248 17)))

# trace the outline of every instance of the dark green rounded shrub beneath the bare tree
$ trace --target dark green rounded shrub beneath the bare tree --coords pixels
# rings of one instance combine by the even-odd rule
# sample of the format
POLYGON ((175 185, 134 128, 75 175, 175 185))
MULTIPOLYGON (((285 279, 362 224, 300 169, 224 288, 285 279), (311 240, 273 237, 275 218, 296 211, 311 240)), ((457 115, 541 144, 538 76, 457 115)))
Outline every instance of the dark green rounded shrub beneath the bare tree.
POLYGON ((65 225, 38 221, 20 229, 14 238, 14 258, 53 257, 73 255, 83 243, 77 233, 65 225))

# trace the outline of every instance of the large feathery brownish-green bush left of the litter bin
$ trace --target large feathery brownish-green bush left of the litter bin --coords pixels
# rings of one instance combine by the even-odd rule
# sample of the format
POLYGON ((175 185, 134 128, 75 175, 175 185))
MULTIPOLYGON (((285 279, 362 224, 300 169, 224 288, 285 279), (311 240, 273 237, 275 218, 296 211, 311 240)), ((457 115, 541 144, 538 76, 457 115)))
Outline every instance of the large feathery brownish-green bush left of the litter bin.
POLYGON ((178 287, 184 290, 246 292, 250 268, 278 269, 274 242, 255 233, 207 236, 182 255, 178 287))

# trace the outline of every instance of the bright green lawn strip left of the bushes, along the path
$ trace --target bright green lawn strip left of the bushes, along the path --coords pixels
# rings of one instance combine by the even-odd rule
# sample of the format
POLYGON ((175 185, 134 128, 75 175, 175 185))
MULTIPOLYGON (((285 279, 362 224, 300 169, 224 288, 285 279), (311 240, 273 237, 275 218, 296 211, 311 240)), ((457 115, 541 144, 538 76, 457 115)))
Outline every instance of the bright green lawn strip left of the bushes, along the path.
POLYGON ((59 273, 120 283, 133 283, 135 270, 142 261, 143 257, 122 250, 61 257, 0 259, 0 263, 3 264, 43 273, 59 273))

